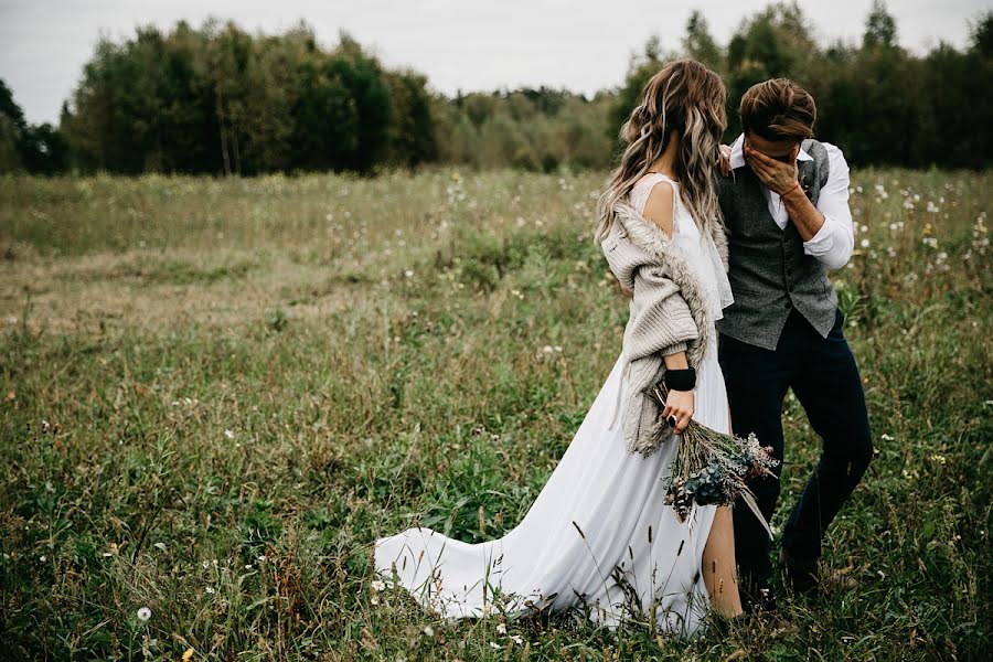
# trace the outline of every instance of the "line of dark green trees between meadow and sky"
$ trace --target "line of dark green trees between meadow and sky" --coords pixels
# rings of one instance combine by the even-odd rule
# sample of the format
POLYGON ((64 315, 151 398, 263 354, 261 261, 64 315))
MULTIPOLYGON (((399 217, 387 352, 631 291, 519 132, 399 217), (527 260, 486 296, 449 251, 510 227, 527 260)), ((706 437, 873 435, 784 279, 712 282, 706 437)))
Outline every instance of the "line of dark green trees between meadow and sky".
POLYGON ((818 137, 853 164, 985 168, 991 163, 993 12, 970 23, 970 43, 925 55, 901 47, 877 0, 858 44, 821 45, 796 2, 741 21, 727 44, 704 15, 664 47, 632 56, 623 84, 592 98, 541 87, 431 92, 410 70, 392 71, 348 34, 331 50, 300 23, 252 35, 233 22, 143 26, 102 40, 63 104, 58 126, 25 121, 0 81, 0 171, 252 175, 452 163, 535 171, 608 168, 617 132, 645 81, 665 61, 692 56, 728 87, 727 139, 737 102, 754 83, 788 76, 818 103, 818 137))

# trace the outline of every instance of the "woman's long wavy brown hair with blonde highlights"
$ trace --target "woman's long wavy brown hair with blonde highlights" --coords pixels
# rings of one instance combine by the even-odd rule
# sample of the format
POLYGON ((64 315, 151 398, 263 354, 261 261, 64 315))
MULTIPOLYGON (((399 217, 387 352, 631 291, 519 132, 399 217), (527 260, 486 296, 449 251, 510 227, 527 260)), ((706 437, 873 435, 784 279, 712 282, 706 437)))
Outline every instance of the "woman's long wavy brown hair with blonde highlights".
POLYGON ((599 245, 613 223, 613 205, 680 137, 675 163, 681 200, 702 231, 723 223, 717 204, 717 156, 727 127, 727 88, 720 76, 695 60, 670 62, 641 90, 639 104, 620 129, 624 146, 620 164, 597 204, 594 242, 599 245))

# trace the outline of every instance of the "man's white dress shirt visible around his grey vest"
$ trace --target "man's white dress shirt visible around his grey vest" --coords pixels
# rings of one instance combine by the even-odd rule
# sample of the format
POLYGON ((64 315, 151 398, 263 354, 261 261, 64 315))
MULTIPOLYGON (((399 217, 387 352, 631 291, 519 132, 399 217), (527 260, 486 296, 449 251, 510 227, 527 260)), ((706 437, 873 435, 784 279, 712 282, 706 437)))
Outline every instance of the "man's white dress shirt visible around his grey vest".
MULTIPOLYGON (((743 168, 745 153, 743 146, 745 134, 738 136, 732 145, 732 170, 743 168)), ((842 151, 830 142, 821 142, 828 150, 828 182, 821 188, 816 209, 824 216, 824 225, 809 241, 803 242, 803 252, 824 263, 829 269, 840 269, 852 257, 855 248, 855 228, 852 224, 852 211, 848 209, 848 163, 842 151)), ((813 160, 803 148, 797 156, 798 161, 813 160)), ((780 229, 786 229, 789 213, 779 194, 762 186, 762 193, 769 204, 769 214, 780 229)))

